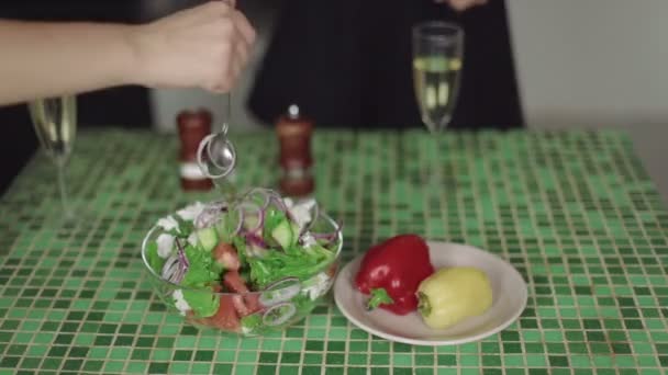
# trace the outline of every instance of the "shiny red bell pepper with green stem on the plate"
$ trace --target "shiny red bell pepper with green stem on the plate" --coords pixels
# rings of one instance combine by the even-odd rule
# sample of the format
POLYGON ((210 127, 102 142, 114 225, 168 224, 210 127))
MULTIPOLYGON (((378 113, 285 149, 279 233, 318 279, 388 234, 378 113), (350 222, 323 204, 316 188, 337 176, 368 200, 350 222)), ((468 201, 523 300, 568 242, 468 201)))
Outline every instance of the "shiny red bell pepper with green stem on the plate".
POLYGON ((396 315, 407 315, 417 308, 415 292, 432 273, 434 266, 426 242, 416 235, 401 235, 367 251, 355 285, 370 295, 368 309, 380 307, 396 315))

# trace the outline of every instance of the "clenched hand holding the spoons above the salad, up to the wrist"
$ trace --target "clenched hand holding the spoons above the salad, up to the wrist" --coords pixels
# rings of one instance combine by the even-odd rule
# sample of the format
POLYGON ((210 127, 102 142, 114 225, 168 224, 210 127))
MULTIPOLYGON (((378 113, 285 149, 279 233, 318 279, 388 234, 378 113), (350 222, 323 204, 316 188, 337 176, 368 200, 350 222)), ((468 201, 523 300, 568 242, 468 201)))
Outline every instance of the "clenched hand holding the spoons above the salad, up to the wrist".
POLYGON ((134 29, 133 81, 227 92, 248 61, 254 42, 255 30, 241 12, 226 2, 211 1, 134 29))

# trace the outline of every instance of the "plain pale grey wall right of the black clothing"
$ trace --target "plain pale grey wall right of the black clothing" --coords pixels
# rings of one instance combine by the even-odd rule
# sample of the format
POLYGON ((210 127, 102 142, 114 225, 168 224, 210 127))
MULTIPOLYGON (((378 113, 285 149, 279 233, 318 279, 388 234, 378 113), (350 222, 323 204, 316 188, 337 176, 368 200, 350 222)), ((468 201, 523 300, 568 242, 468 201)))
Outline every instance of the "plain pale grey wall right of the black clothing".
POLYGON ((531 125, 668 126, 667 0, 508 0, 508 8, 531 125))

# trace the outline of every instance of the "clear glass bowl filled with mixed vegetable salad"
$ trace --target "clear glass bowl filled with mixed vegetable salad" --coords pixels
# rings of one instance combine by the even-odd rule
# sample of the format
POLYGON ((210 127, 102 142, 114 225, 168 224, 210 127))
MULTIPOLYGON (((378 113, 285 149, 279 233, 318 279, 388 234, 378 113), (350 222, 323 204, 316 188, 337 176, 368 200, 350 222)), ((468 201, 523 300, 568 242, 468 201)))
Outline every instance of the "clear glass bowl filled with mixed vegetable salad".
POLYGON ((196 202, 160 218, 142 259, 160 299, 190 325, 259 336, 313 310, 342 246, 341 226, 314 201, 254 189, 233 204, 196 202))

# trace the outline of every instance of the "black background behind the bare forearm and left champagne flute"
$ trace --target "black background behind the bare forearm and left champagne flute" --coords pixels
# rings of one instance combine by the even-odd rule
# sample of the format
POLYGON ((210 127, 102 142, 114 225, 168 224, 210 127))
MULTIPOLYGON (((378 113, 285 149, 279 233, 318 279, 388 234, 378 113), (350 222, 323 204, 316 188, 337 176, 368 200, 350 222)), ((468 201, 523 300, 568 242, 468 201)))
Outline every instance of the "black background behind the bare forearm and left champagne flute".
MULTIPOLYGON (((143 2, 137 0, 2 0, 0 18, 136 23, 151 18, 143 8, 143 2)), ((78 104, 81 127, 109 124, 138 127, 148 126, 152 121, 148 92, 143 88, 118 88, 81 94, 78 104)), ((1 193, 38 145, 24 104, 0 107, 0 126, 11 137, 11 141, 5 140, 0 148, 1 193)))

